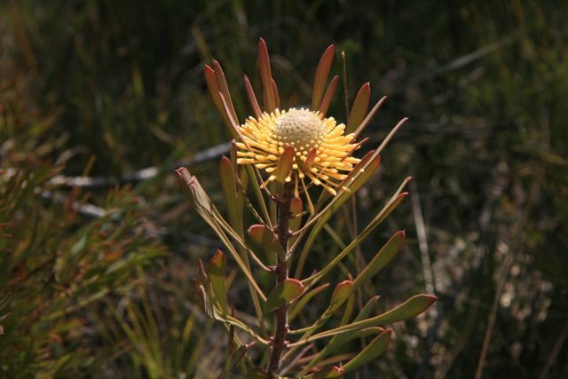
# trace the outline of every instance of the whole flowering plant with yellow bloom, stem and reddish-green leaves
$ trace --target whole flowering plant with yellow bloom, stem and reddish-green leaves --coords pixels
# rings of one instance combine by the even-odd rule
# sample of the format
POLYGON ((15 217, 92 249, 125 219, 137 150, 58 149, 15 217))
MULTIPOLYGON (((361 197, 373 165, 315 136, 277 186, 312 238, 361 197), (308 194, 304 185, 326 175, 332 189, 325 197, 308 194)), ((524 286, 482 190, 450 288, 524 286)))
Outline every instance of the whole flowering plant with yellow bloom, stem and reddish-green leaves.
POLYGON ((406 197, 403 190, 410 178, 402 182, 353 241, 323 262, 319 271, 303 275, 313 242, 330 217, 373 176, 384 146, 406 119, 398 122, 375 150, 357 158, 353 154, 362 142, 357 142, 357 138, 385 98, 368 111, 370 87, 365 84, 353 102, 346 124, 327 116, 338 82, 335 76, 326 86, 335 52, 332 45, 323 53, 316 70, 312 107, 283 110, 263 39, 258 49, 263 107, 245 76, 254 115, 243 124, 233 107, 221 66, 213 61, 212 67, 205 67, 213 102, 234 138, 231 158, 224 157, 219 169, 225 217, 197 178, 184 168, 177 170, 195 208, 217 233, 248 281, 256 314, 245 314, 227 299, 227 257, 220 249, 207 268, 200 261, 200 277, 193 282, 193 301, 227 328, 226 377, 237 370, 249 378, 343 377, 387 349, 392 329, 386 326, 413 318, 437 300, 435 296, 417 295, 388 312, 371 316, 378 300, 378 296, 373 296, 352 317, 355 294, 361 284, 388 265, 404 245, 405 233, 399 231, 378 249, 364 269, 335 285, 330 301, 316 320, 306 325, 296 322, 306 305, 329 286, 319 282, 337 269, 343 258, 406 197), (318 191, 319 187, 324 191, 318 191), (250 195, 254 198, 250 199, 250 195), (247 217, 245 209, 250 214, 247 217), (256 224, 245 230, 249 217, 256 218, 256 224), (290 275, 292 268, 294 275, 290 275), (256 272, 272 273, 273 287, 263 288, 256 280, 256 272), (340 320, 333 320, 332 316, 340 312, 340 320), (322 331, 324 327, 327 328, 322 331), (361 338, 367 342, 366 347, 350 352, 349 342, 361 338), (319 344, 321 340, 325 344, 319 344))

